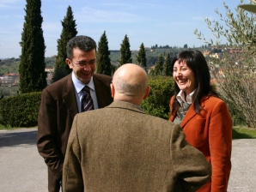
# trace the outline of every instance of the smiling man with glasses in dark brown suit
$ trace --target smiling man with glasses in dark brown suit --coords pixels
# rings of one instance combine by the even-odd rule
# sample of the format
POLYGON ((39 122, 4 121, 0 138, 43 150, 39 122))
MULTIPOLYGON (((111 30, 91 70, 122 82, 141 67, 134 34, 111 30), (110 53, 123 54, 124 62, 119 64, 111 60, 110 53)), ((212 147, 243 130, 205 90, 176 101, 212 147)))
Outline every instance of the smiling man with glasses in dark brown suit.
POLYGON ((83 87, 88 86, 93 109, 113 102, 110 92, 112 77, 94 74, 96 43, 87 36, 76 36, 67 44, 66 63, 70 75, 46 87, 41 96, 38 116, 37 147, 48 166, 48 190, 59 191, 64 155, 76 113, 83 111, 83 87))

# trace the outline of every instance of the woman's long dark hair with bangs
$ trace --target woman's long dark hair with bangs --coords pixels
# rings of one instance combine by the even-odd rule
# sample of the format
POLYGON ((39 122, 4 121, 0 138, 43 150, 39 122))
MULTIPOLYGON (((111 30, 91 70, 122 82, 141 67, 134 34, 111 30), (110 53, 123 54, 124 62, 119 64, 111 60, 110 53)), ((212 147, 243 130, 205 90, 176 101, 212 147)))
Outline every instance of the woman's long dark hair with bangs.
MULTIPOLYGON (((210 85, 210 70, 208 64, 204 58, 202 52, 198 50, 194 51, 181 51, 178 53, 173 61, 172 61, 172 71, 174 71, 174 63, 179 61, 179 63, 185 62, 187 67, 192 69, 192 72, 195 77, 195 85, 196 85, 196 92, 192 96, 192 102, 194 104, 194 111, 199 114, 202 110, 200 105, 201 99, 206 95, 212 95, 218 97, 218 94, 213 90, 210 85)), ((180 92, 180 88, 178 87, 177 83, 175 82, 174 85, 174 104, 172 113, 175 109, 177 109, 178 105, 180 105, 179 101, 176 99, 177 94, 180 92)))

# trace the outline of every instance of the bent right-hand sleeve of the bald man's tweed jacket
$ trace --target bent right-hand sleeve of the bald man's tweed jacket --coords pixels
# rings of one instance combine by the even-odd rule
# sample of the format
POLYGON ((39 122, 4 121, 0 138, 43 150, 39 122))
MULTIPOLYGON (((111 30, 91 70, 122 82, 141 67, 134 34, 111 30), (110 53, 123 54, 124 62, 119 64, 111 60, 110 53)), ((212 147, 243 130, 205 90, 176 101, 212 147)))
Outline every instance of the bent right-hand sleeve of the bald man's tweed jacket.
POLYGON ((174 126, 170 148, 177 175, 174 191, 196 191, 210 180, 210 163, 206 161, 203 153, 188 144, 179 125, 174 126))

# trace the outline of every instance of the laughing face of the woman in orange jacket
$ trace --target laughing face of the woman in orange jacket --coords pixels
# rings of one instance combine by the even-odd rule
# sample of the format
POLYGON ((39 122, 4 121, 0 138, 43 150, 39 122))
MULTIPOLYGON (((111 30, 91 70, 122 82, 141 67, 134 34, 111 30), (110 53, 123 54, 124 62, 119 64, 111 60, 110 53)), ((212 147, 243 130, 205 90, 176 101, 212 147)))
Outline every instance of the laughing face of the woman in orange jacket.
POLYGON ((196 81, 192 69, 187 67, 186 62, 179 60, 174 63, 174 81, 176 81, 180 90, 186 92, 186 95, 192 93, 196 88, 196 81))

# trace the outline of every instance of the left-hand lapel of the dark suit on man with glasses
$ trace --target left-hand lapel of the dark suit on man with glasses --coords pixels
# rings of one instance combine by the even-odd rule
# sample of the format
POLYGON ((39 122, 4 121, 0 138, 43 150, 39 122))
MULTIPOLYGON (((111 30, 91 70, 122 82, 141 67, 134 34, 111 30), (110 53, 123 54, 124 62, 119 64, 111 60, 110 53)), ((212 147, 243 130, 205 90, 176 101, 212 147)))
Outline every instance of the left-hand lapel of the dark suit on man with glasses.
POLYGON ((67 105, 68 110, 70 111, 71 117, 74 118, 78 113, 78 107, 76 102, 75 88, 73 85, 71 74, 68 75, 67 81, 64 85, 63 99, 65 104, 67 105))

